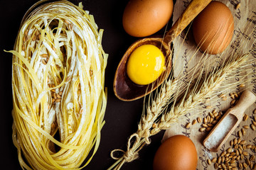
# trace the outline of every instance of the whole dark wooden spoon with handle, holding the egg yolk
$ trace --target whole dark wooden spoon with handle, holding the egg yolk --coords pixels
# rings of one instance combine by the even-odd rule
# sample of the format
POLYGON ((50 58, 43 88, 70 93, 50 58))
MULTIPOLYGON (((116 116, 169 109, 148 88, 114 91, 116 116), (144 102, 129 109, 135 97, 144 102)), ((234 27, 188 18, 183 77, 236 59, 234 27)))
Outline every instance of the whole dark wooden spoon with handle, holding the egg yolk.
POLYGON ((154 91, 156 87, 164 82, 171 72, 171 42, 176 38, 182 30, 188 26, 189 23, 205 8, 211 0, 193 0, 188 5, 186 10, 178 18, 178 21, 174 23, 174 26, 166 33, 164 38, 151 37, 143 38, 134 42, 124 53, 122 60, 119 62, 117 71, 114 75, 114 94, 122 101, 133 101, 138 98, 142 98, 151 91, 154 91), (155 45, 161 49, 164 56, 166 56, 166 70, 161 74, 159 79, 148 85, 134 84, 127 76, 127 61, 132 52, 139 46, 150 44, 155 45))

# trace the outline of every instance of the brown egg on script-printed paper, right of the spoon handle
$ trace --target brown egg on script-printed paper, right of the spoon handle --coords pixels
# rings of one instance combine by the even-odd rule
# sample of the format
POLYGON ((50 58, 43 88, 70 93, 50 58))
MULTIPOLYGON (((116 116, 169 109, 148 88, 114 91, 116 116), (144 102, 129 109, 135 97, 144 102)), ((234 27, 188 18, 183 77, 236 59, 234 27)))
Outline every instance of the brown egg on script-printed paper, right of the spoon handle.
POLYGON ((193 21, 193 37, 203 52, 218 54, 228 47, 234 32, 233 15, 225 4, 211 1, 193 21))

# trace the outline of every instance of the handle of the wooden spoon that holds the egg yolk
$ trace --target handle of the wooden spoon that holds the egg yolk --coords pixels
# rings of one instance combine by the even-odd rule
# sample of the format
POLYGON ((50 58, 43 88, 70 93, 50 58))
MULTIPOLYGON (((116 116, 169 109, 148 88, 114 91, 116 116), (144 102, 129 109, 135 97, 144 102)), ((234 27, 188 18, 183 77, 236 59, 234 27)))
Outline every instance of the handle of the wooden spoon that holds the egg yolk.
POLYGON ((171 47, 171 42, 176 38, 182 30, 188 26, 191 21, 193 21, 194 18, 203 11, 203 8, 205 8, 211 0, 193 0, 188 5, 186 10, 181 14, 181 16, 178 18, 176 23, 174 23, 174 26, 171 27, 171 29, 166 33, 166 36, 164 37, 164 42, 171 47))

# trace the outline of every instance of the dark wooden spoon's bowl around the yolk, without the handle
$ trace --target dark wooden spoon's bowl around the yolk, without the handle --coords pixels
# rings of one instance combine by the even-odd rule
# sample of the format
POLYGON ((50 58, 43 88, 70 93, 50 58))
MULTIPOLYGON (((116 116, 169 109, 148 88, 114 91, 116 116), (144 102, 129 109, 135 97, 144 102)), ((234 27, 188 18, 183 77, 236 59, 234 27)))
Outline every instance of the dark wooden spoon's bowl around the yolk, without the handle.
POLYGON ((162 38, 155 37, 137 40, 128 48, 127 52, 124 53, 124 56, 117 67, 113 84, 115 96, 122 101, 134 101, 146 96, 146 94, 154 91, 154 89, 164 82, 166 77, 168 77, 171 72, 171 66, 171 50, 170 47, 163 42, 162 38), (153 83, 147 85, 138 85, 130 80, 127 76, 127 61, 129 60, 129 56, 137 47, 146 44, 155 45, 161 49, 161 52, 163 52, 164 56, 166 57, 166 70, 164 70, 161 76, 153 83))

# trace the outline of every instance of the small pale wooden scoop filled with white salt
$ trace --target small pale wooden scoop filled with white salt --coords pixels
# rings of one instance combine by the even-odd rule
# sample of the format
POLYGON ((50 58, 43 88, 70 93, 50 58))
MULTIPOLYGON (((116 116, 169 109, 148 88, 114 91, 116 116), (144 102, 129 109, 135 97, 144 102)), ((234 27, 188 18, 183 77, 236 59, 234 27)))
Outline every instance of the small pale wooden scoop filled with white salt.
POLYGON ((231 133, 238 127, 243 118, 245 110, 256 100, 256 96, 249 90, 242 92, 238 103, 229 108, 223 115, 223 118, 210 131, 203 145, 212 152, 218 152, 220 147, 228 140, 231 133))

